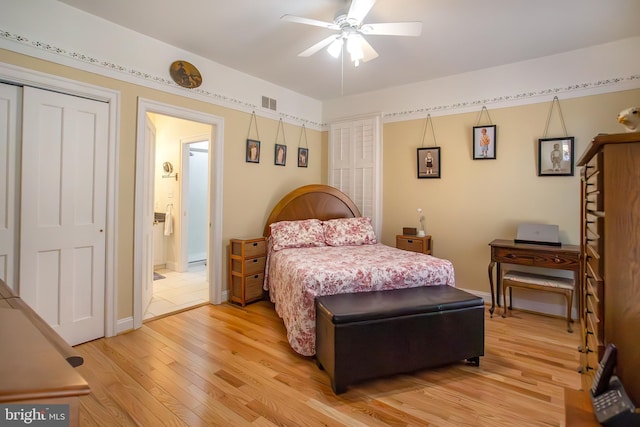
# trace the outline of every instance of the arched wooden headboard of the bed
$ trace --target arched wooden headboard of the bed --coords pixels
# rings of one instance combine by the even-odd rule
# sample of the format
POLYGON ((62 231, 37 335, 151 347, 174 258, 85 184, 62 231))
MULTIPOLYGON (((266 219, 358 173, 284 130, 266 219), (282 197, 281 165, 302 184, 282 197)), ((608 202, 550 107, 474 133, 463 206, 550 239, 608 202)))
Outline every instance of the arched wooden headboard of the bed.
POLYGON ((264 236, 271 234, 269 226, 278 221, 297 221, 317 218, 321 221, 334 218, 361 216, 351 199, 328 185, 311 184, 291 191, 273 208, 264 226, 264 236))

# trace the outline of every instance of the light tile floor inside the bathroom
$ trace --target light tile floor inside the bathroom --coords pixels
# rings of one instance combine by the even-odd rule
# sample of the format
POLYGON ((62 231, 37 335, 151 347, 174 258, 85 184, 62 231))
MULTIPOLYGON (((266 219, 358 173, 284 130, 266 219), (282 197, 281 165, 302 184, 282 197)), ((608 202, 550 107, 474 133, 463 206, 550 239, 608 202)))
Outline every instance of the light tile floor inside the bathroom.
POLYGON ((153 297, 144 320, 209 301, 209 283, 204 263, 189 265, 186 273, 166 269, 155 270, 155 273, 165 278, 153 281, 153 297))

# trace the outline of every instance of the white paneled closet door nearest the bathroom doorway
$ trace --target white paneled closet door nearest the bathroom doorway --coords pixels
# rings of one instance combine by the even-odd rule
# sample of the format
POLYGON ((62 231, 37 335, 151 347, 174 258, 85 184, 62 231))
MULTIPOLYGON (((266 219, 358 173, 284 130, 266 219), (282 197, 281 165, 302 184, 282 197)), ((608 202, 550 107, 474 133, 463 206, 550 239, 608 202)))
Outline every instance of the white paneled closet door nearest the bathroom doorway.
POLYGON ((104 336, 108 116, 23 91, 19 293, 71 345, 104 336))

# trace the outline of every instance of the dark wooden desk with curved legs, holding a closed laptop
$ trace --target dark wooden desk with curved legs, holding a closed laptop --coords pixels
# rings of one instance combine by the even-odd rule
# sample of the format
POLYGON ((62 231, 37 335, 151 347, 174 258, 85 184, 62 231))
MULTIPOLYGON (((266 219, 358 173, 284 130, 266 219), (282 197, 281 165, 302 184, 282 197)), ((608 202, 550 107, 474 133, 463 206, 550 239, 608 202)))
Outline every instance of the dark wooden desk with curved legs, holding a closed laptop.
MULTIPOLYGON (((515 243, 513 240, 496 239, 489 243, 491 246, 491 262, 489 263, 489 285, 491 286, 491 308, 489 313, 493 317, 496 302, 500 307, 500 284, 502 283, 501 263, 526 265, 531 267, 553 268, 556 270, 573 271, 577 284, 580 280, 580 247, 577 245, 535 245, 515 243), (493 281, 493 270, 496 266, 497 288, 493 281), (495 288, 495 290, 494 290, 495 288)), ((582 301, 578 294, 578 301, 582 301)))

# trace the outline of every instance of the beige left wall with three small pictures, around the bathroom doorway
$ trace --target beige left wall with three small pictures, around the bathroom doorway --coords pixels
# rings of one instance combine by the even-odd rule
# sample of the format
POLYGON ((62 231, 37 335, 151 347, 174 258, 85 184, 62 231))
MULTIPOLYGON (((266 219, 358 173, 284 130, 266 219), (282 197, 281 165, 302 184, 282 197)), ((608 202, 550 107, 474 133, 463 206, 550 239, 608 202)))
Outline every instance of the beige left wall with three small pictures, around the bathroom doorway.
MULTIPOLYGON (((117 315, 133 315, 133 231, 134 184, 138 97, 212 114, 224 119, 223 245, 230 238, 261 236, 264 223, 275 202, 290 190, 321 182, 326 177, 326 135, 307 129, 309 167, 297 167, 297 147, 301 128, 284 125, 288 147, 287 165, 273 164, 278 121, 258 117, 261 139, 259 164, 245 163, 245 144, 250 114, 182 96, 164 93, 120 80, 102 77, 51 62, 0 49, 0 62, 89 83, 120 92, 118 131, 118 212, 117 212, 117 315)), ((255 128, 254 128, 255 131, 255 128)), ((253 136, 253 135, 252 135, 253 136)), ((282 131, 278 143, 282 143, 282 131)), ((227 288, 227 262, 223 259, 223 289, 227 288)))

